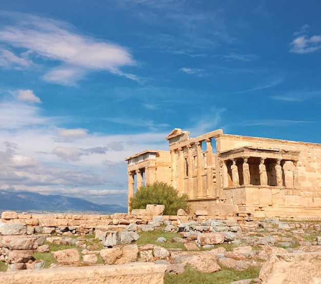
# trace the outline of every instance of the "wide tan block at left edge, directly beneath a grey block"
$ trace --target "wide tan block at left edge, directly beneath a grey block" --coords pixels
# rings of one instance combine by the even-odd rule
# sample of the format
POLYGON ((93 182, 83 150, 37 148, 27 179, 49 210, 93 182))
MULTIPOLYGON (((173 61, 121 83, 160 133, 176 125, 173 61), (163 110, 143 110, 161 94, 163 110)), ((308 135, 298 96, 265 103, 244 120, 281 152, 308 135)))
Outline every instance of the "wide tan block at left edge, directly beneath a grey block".
POLYGON ((36 237, 0 236, 0 247, 10 250, 35 250, 38 247, 36 237))

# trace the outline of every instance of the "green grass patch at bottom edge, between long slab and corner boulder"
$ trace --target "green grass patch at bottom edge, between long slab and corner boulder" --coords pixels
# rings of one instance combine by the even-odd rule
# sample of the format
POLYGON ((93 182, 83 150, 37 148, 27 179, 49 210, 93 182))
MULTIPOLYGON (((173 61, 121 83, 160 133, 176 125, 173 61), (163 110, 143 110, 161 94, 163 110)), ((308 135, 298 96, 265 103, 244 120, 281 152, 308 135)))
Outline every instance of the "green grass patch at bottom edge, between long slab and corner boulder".
POLYGON ((184 274, 171 275, 166 273, 164 284, 230 284, 237 280, 257 278, 259 271, 260 267, 250 267, 242 272, 237 272, 233 269, 223 267, 221 271, 214 273, 202 273, 187 265, 184 274))

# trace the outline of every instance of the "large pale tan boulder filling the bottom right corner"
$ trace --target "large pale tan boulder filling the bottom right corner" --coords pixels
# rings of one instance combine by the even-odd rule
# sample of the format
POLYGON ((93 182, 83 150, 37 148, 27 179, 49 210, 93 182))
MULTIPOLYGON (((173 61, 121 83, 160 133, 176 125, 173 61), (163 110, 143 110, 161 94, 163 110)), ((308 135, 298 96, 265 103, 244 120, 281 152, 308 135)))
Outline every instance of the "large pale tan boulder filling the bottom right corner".
POLYGON ((259 273, 266 284, 311 283, 313 277, 321 277, 320 252, 272 254, 259 273))

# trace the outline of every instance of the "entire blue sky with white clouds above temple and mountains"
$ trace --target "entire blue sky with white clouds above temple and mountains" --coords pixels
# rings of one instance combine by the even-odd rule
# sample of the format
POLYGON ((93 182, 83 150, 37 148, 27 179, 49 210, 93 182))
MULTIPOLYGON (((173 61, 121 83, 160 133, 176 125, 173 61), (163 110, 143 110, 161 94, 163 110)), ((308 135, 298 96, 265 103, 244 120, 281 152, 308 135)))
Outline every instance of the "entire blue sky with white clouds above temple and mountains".
POLYGON ((177 127, 321 143, 318 1, 0 4, 0 189, 127 205, 177 127))

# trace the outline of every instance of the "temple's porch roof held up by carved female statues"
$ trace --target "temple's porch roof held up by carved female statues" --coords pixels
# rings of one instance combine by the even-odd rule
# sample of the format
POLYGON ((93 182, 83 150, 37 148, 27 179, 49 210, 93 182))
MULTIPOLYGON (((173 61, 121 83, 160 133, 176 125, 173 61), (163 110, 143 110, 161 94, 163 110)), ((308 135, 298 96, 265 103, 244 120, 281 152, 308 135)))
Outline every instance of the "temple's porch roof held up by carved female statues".
POLYGON ((241 147, 221 152, 222 187, 298 186, 299 151, 241 147))

